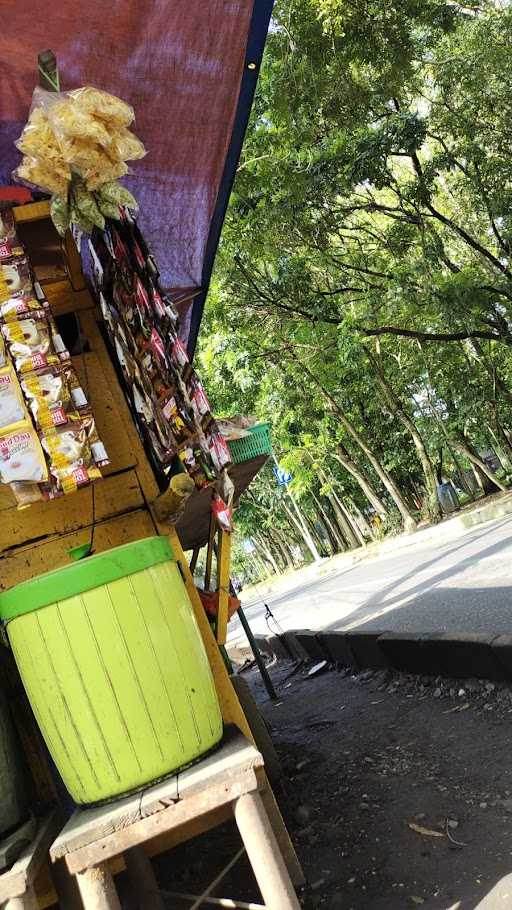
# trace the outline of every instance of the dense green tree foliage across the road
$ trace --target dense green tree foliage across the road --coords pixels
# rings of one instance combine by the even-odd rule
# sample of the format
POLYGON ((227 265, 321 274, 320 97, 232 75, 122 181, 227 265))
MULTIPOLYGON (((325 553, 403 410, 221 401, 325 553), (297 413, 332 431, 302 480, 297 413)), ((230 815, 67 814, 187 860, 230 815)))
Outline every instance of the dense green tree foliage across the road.
MULTIPOLYGON (((512 457, 511 44, 491 0, 276 4, 200 356, 311 528, 512 457)), ((240 526, 305 553, 285 495, 266 471, 240 526)))

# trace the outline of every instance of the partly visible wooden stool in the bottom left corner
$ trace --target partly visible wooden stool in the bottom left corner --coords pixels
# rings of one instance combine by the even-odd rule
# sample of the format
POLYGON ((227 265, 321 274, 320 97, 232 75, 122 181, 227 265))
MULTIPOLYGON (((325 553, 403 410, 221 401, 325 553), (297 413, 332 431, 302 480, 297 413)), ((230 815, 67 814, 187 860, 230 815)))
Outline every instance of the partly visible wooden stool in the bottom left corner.
POLYGON ((34 881, 48 860, 48 850, 58 830, 56 813, 42 819, 32 842, 25 847, 11 868, 0 875, 2 910, 37 910, 34 881))

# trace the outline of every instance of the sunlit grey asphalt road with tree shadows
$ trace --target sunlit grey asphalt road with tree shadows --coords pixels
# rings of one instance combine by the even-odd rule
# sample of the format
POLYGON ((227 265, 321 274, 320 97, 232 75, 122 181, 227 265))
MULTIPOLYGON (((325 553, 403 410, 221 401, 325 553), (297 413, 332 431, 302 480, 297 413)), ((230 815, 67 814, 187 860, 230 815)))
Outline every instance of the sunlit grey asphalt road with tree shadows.
MULTIPOLYGON (((365 560, 288 593, 246 606, 256 634, 287 629, 512 633, 512 516, 442 545, 365 560)), ((243 604, 243 592, 242 592, 243 604)), ((233 623, 230 640, 242 639, 233 623)))

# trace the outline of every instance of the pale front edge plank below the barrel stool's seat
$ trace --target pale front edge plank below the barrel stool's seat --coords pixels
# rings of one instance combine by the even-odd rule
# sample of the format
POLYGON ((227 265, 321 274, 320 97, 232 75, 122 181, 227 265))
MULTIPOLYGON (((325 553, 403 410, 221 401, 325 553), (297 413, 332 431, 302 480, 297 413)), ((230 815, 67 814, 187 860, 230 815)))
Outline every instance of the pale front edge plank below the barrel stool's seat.
POLYGON ((229 783, 203 789, 194 793, 190 798, 162 809, 161 812, 134 822, 128 828, 123 828, 91 843, 88 847, 68 853, 66 856, 67 867, 72 874, 76 875, 77 872, 82 872, 84 869, 89 869, 91 866, 118 856, 119 853, 123 853, 130 847, 144 844, 165 831, 179 829, 191 819, 213 812, 218 807, 229 805, 243 794, 250 793, 256 788, 256 775, 254 771, 249 771, 233 778, 229 783))

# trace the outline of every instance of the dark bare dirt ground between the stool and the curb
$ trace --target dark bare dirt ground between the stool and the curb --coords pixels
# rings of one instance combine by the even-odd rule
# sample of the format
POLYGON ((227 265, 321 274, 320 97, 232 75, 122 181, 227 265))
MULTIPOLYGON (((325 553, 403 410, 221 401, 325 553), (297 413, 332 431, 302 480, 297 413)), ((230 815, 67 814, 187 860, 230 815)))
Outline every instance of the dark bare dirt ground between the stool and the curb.
MULTIPOLYGON (((473 910, 512 871, 512 688, 292 669, 271 668, 276 704, 244 675, 286 771, 304 908, 473 910)), ((197 894, 238 849, 226 825, 160 857, 157 876, 197 894)), ((245 859, 215 893, 260 902, 245 859)))

